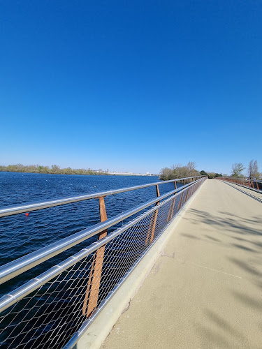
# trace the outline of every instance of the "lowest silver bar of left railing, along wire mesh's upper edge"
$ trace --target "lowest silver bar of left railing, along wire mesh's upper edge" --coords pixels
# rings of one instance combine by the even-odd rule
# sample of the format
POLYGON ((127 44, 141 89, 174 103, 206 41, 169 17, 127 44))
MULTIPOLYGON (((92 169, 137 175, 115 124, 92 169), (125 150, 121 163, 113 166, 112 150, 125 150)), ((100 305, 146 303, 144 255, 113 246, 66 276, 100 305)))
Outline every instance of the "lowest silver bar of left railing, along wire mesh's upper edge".
MULTIPOLYGON (((198 183, 201 180, 192 182, 191 185, 194 186, 196 183, 198 183)), ((189 186, 189 184, 187 184, 189 186)), ((183 191, 186 191, 187 188, 182 189, 179 193, 176 193, 175 195, 171 196, 167 200, 161 202, 159 205, 152 207, 152 209, 149 209, 144 214, 141 214, 139 217, 133 219, 133 221, 127 223, 121 228, 118 228, 114 232, 111 232, 107 237, 103 237, 102 239, 98 240, 97 242, 94 242, 87 248, 83 248, 78 253, 75 253, 74 255, 71 255, 71 257, 66 258, 63 262, 60 262, 58 265, 54 265, 54 267, 50 268, 48 271, 43 272, 41 275, 37 276, 34 279, 31 279, 24 285, 20 286, 16 290, 10 292, 8 295, 4 295, 0 299, 0 313, 4 310, 8 309, 10 306, 18 302, 20 299, 26 297, 29 295, 29 293, 33 292, 34 290, 41 287, 41 285, 44 285, 54 277, 61 274, 61 272, 64 272, 69 267, 72 267, 75 265, 75 263, 79 262, 83 258, 86 258, 88 255, 96 251, 101 246, 108 244, 112 239, 115 239, 118 235, 122 234, 122 232, 126 231, 127 229, 131 228, 131 226, 135 225, 139 221, 141 221, 146 216, 152 214, 155 210, 159 209, 161 206, 166 205, 166 203, 170 200, 173 200, 177 195, 180 195, 183 191)), ((159 197, 160 198, 160 197, 159 197)), ((158 198, 158 200, 159 200, 158 198)), ((169 224, 168 224, 169 225, 169 224)))

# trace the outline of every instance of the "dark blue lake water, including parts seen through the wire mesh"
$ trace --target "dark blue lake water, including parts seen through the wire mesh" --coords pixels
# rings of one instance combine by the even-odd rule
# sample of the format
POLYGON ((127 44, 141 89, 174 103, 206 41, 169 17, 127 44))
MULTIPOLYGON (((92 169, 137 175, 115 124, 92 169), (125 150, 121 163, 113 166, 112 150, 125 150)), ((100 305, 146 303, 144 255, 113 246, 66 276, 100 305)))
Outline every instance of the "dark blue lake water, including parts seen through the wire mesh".
MULTIPOLYGON (((99 192, 102 191, 138 186, 140 184, 154 183, 157 181, 159 181, 157 177, 144 176, 86 176, 0 172, 0 207, 53 198, 67 198, 89 193, 99 194, 99 192)), ((163 194, 173 190, 174 184, 162 184, 159 186, 159 189, 160 193, 163 194)), ((143 202, 152 200, 152 198, 156 198, 155 186, 137 191, 110 195, 105 198, 108 218, 122 213, 127 209, 131 209, 132 207, 136 207, 143 202)), ((141 211, 139 214, 141 214, 141 211)), ((128 218, 126 221, 133 219, 133 217, 134 216, 128 218)), ((79 232, 84 228, 99 223, 99 221, 98 199, 87 200, 85 202, 74 202, 72 204, 41 209, 39 211, 31 211, 28 217, 25 216, 25 214, 17 214, 15 216, 0 218, 0 265, 4 265, 32 251, 36 251, 38 248, 47 246, 61 238, 68 237, 75 232, 79 232)), ((108 229, 108 232, 115 230, 122 224, 123 223, 120 222, 114 225, 108 229)), ((137 228, 137 230, 139 229, 137 228)), ((128 271, 129 267, 133 265, 132 249, 129 251, 128 247, 129 245, 132 247, 133 239, 135 244, 140 241, 138 238, 140 232, 137 230, 130 232, 128 238, 125 237, 126 251, 119 250, 118 258, 124 258, 124 266, 114 259, 110 260, 110 263, 108 262, 107 264, 107 268, 103 270, 101 276, 103 287, 101 287, 99 291, 98 302, 101 302, 101 300, 108 295, 108 292, 112 290, 114 285, 119 282, 119 278, 121 277, 119 272, 122 272, 122 269, 128 271)), ((9 293, 29 279, 38 276, 53 265, 61 262, 61 260, 66 259, 69 255, 80 251, 81 248, 89 246, 89 244, 92 244, 92 242, 97 239, 98 236, 96 235, 85 242, 81 242, 68 251, 64 251, 54 258, 43 262, 41 265, 0 285, 0 295, 9 293)), ((147 248, 145 244, 143 244, 143 248, 147 248)), ((143 248, 140 248, 142 252, 143 248)), ((138 253, 138 251, 136 251, 136 253, 138 253)), ((27 304, 29 299, 26 297, 15 305, 15 309, 10 307, 10 309, 6 311, 6 313, 8 313, 10 310, 10 314, 6 318, 4 317, 4 312, 3 320, 1 321, 0 319, 1 348, 31 349, 36 348, 36 344, 39 344, 38 348, 42 349, 59 349, 64 346, 66 341, 71 338, 73 333, 75 333, 85 320, 85 316, 82 316, 82 303, 85 292, 82 292, 82 290, 86 290, 87 288, 87 275, 85 275, 85 277, 82 275, 89 273, 91 265, 92 256, 90 255, 87 257, 85 267, 82 269, 80 268, 78 270, 78 266, 75 270, 72 270, 71 274, 69 273, 68 276, 65 276, 66 273, 61 274, 61 278, 63 279, 65 277, 65 280, 68 282, 66 284, 68 285, 67 288, 63 289, 64 283, 59 283, 59 288, 57 288, 56 283, 52 286, 52 282, 50 284, 47 283, 39 290, 39 294, 35 295, 35 293, 38 292, 35 291, 29 295, 29 305, 27 304), (81 275, 81 277, 79 277, 78 274, 81 275), (71 295, 71 287, 72 285, 76 285, 74 284, 75 276, 78 276, 76 282, 77 289, 75 293, 71 295), (70 285, 69 280, 72 281, 70 285), (50 291, 51 287, 55 292, 50 291), (58 290, 60 293, 57 294, 58 290), (70 302, 68 299, 70 299, 70 302), (75 309, 75 302, 77 304, 77 309, 75 309), (26 304, 27 308, 24 308, 26 304), (38 316, 40 316, 38 311, 41 313, 41 323, 38 323, 38 316), (37 316, 36 313, 38 314, 37 316), (61 316, 61 313, 64 315, 61 316), (76 315, 72 318, 71 313, 76 315), (54 316, 54 314, 56 316, 54 316), (13 326, 17 326, 14 327, 17 346, 14 346, 15 343, 12 342, 13 326), (52 331, 49 331, 51 328, 52 331), (59 333, 61 328, 63 329, 62 337, 60 337, 59 333), (57 336, 59 336, 59 346, 57 346, 57 344, 52 346, 53 341, 56 343, 55 340, 57 336), (22 344, 22 341, 24 341, 24 344, 22 344)))

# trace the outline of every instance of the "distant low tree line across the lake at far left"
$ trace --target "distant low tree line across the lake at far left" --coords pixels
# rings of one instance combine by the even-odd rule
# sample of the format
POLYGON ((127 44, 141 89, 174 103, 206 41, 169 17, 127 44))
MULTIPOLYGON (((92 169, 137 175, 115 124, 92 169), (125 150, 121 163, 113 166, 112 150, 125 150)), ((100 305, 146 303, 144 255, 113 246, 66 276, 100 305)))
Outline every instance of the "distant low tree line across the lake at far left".
POLYGON ((103 170, 91 170, 90 168, 60 168, 58 165, 43 166, 43 165, 22 165, 18 163, 17 165, 0 165, 0 171, 6 172, 29 172, 29 173, 49 173, 49 174, 108 174, 103 170))

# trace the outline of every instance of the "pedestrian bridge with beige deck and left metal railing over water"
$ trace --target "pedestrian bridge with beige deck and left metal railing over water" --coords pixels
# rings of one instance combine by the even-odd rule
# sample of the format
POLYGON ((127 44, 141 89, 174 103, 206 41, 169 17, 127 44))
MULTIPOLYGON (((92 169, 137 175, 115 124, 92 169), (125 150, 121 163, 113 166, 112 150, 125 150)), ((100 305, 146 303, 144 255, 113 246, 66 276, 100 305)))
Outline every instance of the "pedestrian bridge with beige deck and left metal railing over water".
POLYGON ((110 219, 103 198, 128 188, 100 193, 101 223, 0 267, 1 289, 13 283, 0 299, 1 347, 261 348, 261 191, 206 177, 173 182, 164 195, 165 182, 152 184, 157 198, 110 219), (15 277, 95 234, 97 242, 15 286, 15 277))

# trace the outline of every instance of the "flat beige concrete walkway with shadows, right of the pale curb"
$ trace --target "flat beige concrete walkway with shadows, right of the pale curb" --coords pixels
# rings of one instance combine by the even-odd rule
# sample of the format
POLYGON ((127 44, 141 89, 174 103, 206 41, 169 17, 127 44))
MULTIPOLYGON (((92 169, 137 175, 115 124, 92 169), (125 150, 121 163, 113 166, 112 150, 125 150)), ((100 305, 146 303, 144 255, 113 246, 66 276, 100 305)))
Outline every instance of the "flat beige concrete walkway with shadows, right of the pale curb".
POLYGON ((262 203, 205 181, 102 348, 261 349, 262 203))

